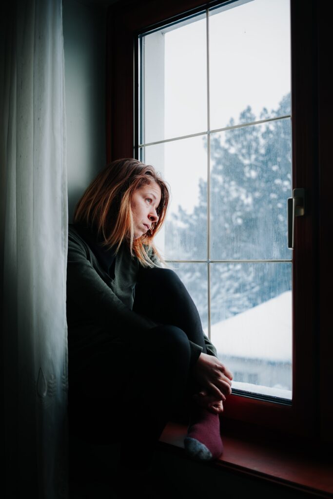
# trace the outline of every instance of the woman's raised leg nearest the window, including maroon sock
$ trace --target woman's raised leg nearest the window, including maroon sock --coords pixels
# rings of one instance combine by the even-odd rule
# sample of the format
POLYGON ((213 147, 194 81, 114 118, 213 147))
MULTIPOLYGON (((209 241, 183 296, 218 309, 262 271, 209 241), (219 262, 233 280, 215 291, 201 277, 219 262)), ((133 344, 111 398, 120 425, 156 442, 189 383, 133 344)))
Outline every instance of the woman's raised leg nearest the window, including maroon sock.
MULTIPOLYGON (((189 340, 207 353, 199 312, 176 272, 165 268, 142 268, 135 291, 133 310, 144 311, 155 321, 174 324, 185 331, 189 340)), ((143 312, 142 312, 143 313, 143 312)), ((223 451, 218 414, 198 407, 191 395, 201 387, 189 376, 182 410, 190 416, 185 450, 198 460, 219 457, 223 451)))

